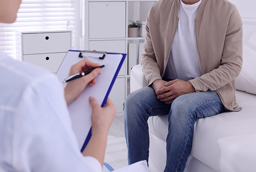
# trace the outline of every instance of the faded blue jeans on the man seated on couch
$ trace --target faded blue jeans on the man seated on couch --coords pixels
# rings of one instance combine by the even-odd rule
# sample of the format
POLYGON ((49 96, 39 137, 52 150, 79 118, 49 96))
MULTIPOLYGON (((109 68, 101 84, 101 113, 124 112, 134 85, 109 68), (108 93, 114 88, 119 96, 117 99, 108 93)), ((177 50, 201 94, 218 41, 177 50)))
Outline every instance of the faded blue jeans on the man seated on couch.
POLYGON ((149 156, 148 117, 169 113, 167 162, 164 172, 183 172, 191 151, 194 123, 225 111, 214 91, 193 92, 166 104, 156 98, 151 87, 129 94, 124 102, 125 139, 128 164, 147 160, 149 156))

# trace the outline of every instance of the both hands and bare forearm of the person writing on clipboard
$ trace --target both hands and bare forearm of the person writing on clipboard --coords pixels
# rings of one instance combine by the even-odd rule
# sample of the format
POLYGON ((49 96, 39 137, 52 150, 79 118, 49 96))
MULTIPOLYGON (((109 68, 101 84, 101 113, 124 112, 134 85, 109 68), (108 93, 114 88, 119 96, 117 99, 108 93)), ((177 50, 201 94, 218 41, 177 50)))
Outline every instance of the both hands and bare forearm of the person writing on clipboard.
MULTIPOLYGON (((85 72, 98 66, 98 63, 83 59, 71 66, 69 76, 85 72)), ((100 75, 100 72, 101 69, 96 68, 81 78, 67 82, 65 85, 65 99, 67 104, 78 98, 87 84, 93 86, 96 83, 96 76, 100 75)), ((108 129, 116 115, 116 107, 109 98, 104 107, 101 107, 93 97, 89 98, 89 102, 92 106, 92 137, 83 151, 83 156, 92 156, 103 166, 108 129)))

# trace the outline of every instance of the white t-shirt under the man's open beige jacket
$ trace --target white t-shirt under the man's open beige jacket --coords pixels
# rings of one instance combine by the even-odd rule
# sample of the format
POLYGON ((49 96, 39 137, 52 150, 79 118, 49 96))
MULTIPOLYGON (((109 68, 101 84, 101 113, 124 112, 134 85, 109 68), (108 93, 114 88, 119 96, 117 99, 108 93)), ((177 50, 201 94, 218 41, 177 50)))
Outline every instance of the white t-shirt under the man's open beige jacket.
POLYGON ((188 81, 202 76, 195 33, 196 13, 201 2, 191 5, 179 2, 179 24, 164 73, 166 79, 188 81))

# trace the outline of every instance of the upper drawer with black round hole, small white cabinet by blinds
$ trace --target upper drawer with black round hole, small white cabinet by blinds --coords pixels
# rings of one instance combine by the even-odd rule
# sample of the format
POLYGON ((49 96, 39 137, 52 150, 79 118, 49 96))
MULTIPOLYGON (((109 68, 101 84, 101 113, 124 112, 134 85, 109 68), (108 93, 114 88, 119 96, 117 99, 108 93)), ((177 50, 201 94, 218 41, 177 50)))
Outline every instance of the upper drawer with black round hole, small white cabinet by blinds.
POLYGON ((23 34, 23 54, 60 53, 71 49, 71 32, 23 34))

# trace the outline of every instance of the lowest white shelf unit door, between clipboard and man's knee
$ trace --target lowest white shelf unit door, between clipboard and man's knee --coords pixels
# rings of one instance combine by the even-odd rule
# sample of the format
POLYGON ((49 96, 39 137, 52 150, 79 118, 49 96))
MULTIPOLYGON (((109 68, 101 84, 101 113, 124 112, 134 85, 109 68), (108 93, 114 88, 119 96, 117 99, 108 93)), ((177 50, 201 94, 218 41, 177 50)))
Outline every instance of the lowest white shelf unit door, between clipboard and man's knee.
POLYGON ((125 101, 125 78, 117 78, 108 96, 116 106, 116 112, 123 112, 125 101))

